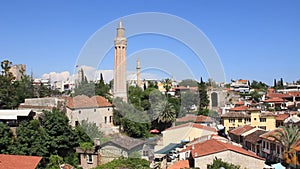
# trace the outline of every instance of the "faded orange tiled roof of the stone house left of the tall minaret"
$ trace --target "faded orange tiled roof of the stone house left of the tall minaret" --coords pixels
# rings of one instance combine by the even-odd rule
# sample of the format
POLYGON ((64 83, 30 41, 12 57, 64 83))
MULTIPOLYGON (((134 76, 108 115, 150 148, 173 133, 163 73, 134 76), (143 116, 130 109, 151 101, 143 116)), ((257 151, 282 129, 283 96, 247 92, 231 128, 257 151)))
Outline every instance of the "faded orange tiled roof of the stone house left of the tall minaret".
POLYGON ((75 97, 66 98, 66 106, 71 109, 76 108, 96 108, 96 107, 110 107, 112 106, 104 97, 93 96, 88 97, 85 95, 79 95, 75 97))

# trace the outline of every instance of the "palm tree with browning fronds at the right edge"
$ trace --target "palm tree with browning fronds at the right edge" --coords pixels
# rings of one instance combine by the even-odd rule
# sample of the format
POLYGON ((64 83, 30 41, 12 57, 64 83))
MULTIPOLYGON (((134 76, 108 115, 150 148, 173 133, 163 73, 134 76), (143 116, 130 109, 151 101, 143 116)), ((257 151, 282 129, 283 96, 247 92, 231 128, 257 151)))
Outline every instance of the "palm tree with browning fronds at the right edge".
POLYGON ((283 160, 287 167, 299 165, 296 146, 300 144, 300 130, 298 126, 280 127, 274 134, 270 135, 284 148, 283 160))

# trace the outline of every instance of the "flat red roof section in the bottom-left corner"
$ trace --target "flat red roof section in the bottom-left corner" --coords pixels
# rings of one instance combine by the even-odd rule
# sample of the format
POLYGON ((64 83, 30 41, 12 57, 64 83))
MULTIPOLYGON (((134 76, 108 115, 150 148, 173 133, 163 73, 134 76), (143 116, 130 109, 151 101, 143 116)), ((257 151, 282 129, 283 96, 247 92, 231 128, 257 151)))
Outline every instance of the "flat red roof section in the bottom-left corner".
POLYGON ((42 157, 0 154, 1 169, 35 169, 42 157))

